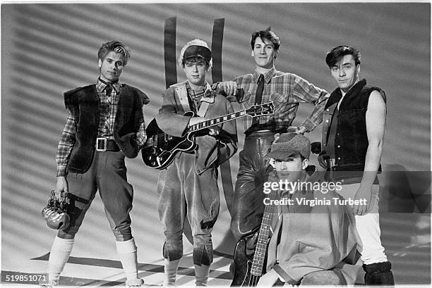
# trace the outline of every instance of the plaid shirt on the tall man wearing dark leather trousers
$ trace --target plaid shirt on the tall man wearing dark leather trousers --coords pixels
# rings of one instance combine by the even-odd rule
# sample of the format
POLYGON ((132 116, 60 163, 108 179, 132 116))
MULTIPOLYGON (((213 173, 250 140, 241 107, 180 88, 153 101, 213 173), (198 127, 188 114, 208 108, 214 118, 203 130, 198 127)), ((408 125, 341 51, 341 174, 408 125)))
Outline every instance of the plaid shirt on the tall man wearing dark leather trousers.
MULTIPOLYGON (((260 73, 257 70, 253 74, 246 74, 234 79, 237 88, 244 89, 244 95, 239 100, 241 107, 246 109, 255 104, 256 89, 260 73)), ((275 115, 259 118, 260 125, 273 127, 289 127, 296 117, 300 103, 313 104, 315 108, 306 118, 302 126, 312 131, 323 120, 325 103, 330 95, 324 89, 320 89, 307 82, 303 78, 292 74, 277 71, 274 67, 264 75, 264 90, 262 104, 273 101, 275 115)), ((252 125, 252 118, 244 117, 244 129, 252 125)))

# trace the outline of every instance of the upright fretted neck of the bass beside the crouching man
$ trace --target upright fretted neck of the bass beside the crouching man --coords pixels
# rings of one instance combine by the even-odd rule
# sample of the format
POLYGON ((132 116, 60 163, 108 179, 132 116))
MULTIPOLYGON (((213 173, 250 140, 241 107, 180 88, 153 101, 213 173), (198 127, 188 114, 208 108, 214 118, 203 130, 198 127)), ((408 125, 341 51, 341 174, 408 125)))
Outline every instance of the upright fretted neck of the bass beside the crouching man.
MULTIPOLYGON (((275 199, 275 191, 270 194, 270 199, 275 199)), ((265 253, 267 253, 268 235, 270 234, 270 227, 272 225, 272 214, 274 206, 265 205, 263 220, 261 221, 260 233, 256 243, 255 253, 253 253, 253 261, 251 266, 251 275, 263 275, 263 266, 265 253)))

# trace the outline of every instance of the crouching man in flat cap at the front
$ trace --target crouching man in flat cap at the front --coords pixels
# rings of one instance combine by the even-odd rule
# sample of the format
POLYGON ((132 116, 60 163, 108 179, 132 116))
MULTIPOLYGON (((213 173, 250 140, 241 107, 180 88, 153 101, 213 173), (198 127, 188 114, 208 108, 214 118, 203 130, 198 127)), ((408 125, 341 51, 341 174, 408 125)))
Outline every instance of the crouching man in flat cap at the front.
POLYGON ((355 282, 351 265, 358 259, 354 216, 347 206, 335 204, 335 199, 342 199, 338 194, 317 189, 320 182, 314 166, 306 173, 310 149, 308 138, 296 133, 281 134, 270 146, 267 156, 274 170, 268 181, 285 186, 266 197, 284 201, 264 202, 274 206, 274 233, 268 246, 267 273, 258 286, 272 286, 277 280, 292 285, 355 282))

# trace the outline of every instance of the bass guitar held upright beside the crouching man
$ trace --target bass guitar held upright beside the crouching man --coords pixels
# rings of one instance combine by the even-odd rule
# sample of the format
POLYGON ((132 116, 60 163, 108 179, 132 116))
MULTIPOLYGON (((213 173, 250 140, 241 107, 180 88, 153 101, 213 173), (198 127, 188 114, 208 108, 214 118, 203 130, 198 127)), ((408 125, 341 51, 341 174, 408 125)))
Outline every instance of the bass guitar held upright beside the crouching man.
MULTIPOLYGON (((277 192, 272 190, 270 192, 270 199, 275 199, 276 194, 277 192)), ((237 242, 234 249, 234 278, 231 283, 232 287, 255 287, 260 277, 265 273, 264 265, 267 260, 266 254, 273 210, 273 205, 265 205, 260 230, 254 234, 246 235, 237 242), (258 239, 253 253, 253 260, 251 261, 251 258, 246 253, 246 242, 248 239, 256 237, 256 233, 258 233, 258 239)))

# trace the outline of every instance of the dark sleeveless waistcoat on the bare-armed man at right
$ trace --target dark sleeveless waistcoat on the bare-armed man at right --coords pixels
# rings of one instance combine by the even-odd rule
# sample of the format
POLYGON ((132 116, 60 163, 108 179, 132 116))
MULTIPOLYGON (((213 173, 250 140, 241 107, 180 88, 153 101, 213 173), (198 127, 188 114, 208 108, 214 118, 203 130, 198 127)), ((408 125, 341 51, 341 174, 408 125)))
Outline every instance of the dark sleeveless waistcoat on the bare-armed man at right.
MULTIPOLYGON (((340 104, 335 135, 335 171, 358 171, 360 177, 363 174, 369 143, 366 133, 366 111, 369 96, 374 90, 380 92, 385 101, 383 89, 368 86, 366 80, 361 80, 349 89, 340 104)), ((325 105, 323 119, 324 147, 328 142, 330 123, 335 120, 332 119, 332 114, 341 98, 342 93, 337 88, 330 94, 330 98, 325 105)), ((381 166, 378 171, 380 170, 381 166)), ((355 177, 352 173, 348 174, 355 177)))

